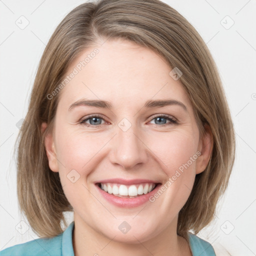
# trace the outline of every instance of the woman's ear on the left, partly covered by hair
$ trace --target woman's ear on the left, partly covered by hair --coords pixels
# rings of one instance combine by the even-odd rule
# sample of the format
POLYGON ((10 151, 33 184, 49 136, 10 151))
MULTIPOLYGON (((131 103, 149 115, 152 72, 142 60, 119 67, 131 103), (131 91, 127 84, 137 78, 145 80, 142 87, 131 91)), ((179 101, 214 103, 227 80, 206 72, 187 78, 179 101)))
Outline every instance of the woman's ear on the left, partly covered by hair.
MULTIPOLYGON (((44 132, 44 130, 47 127, 47 123, 43 122, 41 124, 41 133, 44 132)), ((57 155, 54 145, 54 140, 51 133, 47 133, 44 137, 44 147, 46 151, 46 155, 48 158, 49 168, 52 171, 57 172, 58 171, 58 161, 57 161, 57 155)))

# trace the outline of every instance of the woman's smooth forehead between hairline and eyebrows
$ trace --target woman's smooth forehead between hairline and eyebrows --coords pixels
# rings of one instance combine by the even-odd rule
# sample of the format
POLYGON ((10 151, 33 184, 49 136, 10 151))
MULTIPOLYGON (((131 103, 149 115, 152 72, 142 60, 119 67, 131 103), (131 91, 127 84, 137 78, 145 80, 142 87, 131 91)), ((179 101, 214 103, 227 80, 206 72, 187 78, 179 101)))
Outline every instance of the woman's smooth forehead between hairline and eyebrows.
POLYGON ((123 39, 106 40, 72 61, 66 74, 74 75, 61 89, 60 101, 71 104, 88 97, 111 101, 113 107, 164 98, 189 103, 182 84, 169 75, 171 70, 163 57, 146 47, 123 39))

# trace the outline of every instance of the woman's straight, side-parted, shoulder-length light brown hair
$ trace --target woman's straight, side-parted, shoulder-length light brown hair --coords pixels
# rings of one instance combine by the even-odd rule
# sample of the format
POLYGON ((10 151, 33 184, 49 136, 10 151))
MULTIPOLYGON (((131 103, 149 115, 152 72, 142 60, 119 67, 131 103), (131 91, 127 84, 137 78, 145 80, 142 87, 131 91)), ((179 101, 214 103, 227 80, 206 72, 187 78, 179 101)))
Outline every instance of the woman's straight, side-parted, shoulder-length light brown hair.
MULTIPOLYGON (((234 161, 234 130, 221 81, 204 41, 176 10, 159 0, 99 0, 71 10, 47 43, 34 80, 28 112, 19 131, 17 193, 20 210, 40 237, 62 232, 64 211, 72 211, 58 172, 49 169, 44 149, 51 132, 59 94, 48 99, 72 60, 98 41, 123 38, 164 57, 179 78, 195 113, 200 134, 208 124, 213 148, 205 170, 196 174, 191 194, 178 214, 177 234, 187 240, 214 216, 234 161), (44 132, 41 123, 47 122, 44 132)), ((68 85, 67 85, 68 86, 68 85)), ((16 144, 15 144, 16 146, 16 144)))

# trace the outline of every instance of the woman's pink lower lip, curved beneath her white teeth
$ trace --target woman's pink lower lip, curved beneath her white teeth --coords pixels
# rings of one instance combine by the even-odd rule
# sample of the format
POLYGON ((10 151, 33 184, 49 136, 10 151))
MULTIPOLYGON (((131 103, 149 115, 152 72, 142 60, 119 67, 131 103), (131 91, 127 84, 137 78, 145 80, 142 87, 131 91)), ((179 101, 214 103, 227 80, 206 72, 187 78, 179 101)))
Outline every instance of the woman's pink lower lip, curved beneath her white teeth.
POLYGON ((126 207, 126 208, 129 208, 129 207, 136 207, 136 206, 139 206, 139 205, 142 205, 143 203, 145 203, 146 201, 149 201, 149 197, 151 195, 153 195, 155 193, 155 191, 158 190, 158 187, 160 186, 161 184, 157 184, 155 186, 155 188, 150 191, 149 193, 147 194, 142 194, 138 197, 133 197, 133 198, 125 198, 125 197, 119 197, 119 196, 115 196, 113 194, 109 194, 107 192, 105 192, 104 190, 102 190, 97 184, 96 184, 96 187, 97 189, 99 190, 100 194, 109 202, 111 202, 112 204, 116 205, 116 206, 119 206, 119 207, 126 207))

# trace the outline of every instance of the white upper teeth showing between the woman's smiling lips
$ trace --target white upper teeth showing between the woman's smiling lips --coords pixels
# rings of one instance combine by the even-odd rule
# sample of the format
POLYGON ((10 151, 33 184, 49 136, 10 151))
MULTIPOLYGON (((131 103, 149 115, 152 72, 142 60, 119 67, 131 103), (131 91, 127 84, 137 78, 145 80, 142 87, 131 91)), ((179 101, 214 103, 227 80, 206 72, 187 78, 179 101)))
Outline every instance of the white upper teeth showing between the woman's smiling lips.
POLYGON ((160 183, 141 183, 124 185, 118 183, 96 183, 105 192, 118 197, 135 198, 151 192, 160 183))

